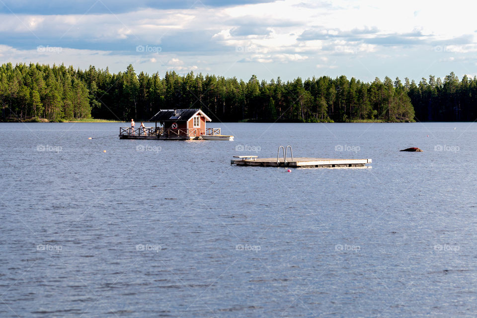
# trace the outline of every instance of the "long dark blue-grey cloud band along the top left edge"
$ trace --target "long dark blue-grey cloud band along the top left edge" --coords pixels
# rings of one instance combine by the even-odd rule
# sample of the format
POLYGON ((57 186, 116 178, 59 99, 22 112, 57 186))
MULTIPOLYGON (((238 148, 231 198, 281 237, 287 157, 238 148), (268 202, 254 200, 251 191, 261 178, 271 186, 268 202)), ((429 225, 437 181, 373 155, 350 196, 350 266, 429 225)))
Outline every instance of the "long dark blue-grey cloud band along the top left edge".
POLYGON ((273 0, 3 0, 0 13, 11 14, 98 14, 125 13, 144 8, 188 9, 191 7, 222 7, 249 3, 266 3, 273 0))

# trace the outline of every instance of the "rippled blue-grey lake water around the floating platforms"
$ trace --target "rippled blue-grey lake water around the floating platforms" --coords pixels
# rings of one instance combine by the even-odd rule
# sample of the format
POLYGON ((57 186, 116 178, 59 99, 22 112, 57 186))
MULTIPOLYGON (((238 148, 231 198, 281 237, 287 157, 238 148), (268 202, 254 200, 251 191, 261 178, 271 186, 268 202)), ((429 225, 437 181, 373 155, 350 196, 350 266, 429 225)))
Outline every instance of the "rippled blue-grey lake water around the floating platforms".
POLYGON ((477 124, 125 125, 0 124, 0 317, 477 315, 477 124))

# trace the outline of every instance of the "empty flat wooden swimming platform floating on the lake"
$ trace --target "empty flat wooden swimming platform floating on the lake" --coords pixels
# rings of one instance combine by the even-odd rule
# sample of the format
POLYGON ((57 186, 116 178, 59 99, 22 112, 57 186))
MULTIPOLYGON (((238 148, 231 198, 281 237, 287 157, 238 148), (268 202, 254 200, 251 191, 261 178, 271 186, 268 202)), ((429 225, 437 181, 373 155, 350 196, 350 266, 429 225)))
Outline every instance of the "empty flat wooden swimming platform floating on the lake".
POLYGON ((291 168, 300 168, 300 167, 323 167, 323 168, 334 168, 334 167, 362 167, 366 163, 371 163, 371 159, 327 159, 327 158, 294 158, 290 161, 284 162, 283 159, 280 159, 277 163, 276 158, 255 158, 252 160, 244 159, 232 159, 230 164, 236 165, 249 165, 249 166, 261 166, 261 167, 291 167, 291 168))

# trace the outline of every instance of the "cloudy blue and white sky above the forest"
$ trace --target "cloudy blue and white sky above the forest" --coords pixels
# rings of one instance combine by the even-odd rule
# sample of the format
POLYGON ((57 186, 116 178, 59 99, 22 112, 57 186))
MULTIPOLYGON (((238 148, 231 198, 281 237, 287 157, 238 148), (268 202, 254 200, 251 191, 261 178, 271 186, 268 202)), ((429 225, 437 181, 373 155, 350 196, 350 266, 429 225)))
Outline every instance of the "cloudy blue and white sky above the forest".
POLYGON ((477 2, 0 0, 0 62, 248 80, 477 75, 477 2))

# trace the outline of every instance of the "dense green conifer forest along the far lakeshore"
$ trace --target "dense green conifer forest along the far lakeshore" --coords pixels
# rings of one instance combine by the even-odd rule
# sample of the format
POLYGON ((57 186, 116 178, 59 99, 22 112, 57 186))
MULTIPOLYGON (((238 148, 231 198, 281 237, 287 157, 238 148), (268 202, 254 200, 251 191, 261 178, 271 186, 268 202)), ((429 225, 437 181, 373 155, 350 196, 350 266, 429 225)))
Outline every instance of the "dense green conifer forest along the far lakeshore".
POLYGON ((477 78, 373 82, 322 76, 247 82, 215 75, 179 76, 174 71, 136 74, 132 65, 111 74, 90 66, 3 64, 2 120, 16 117, 67 121, 101 118, 148 120, 160 108, 202 108, 220 121, 471 121, 476 119, 477 78))

